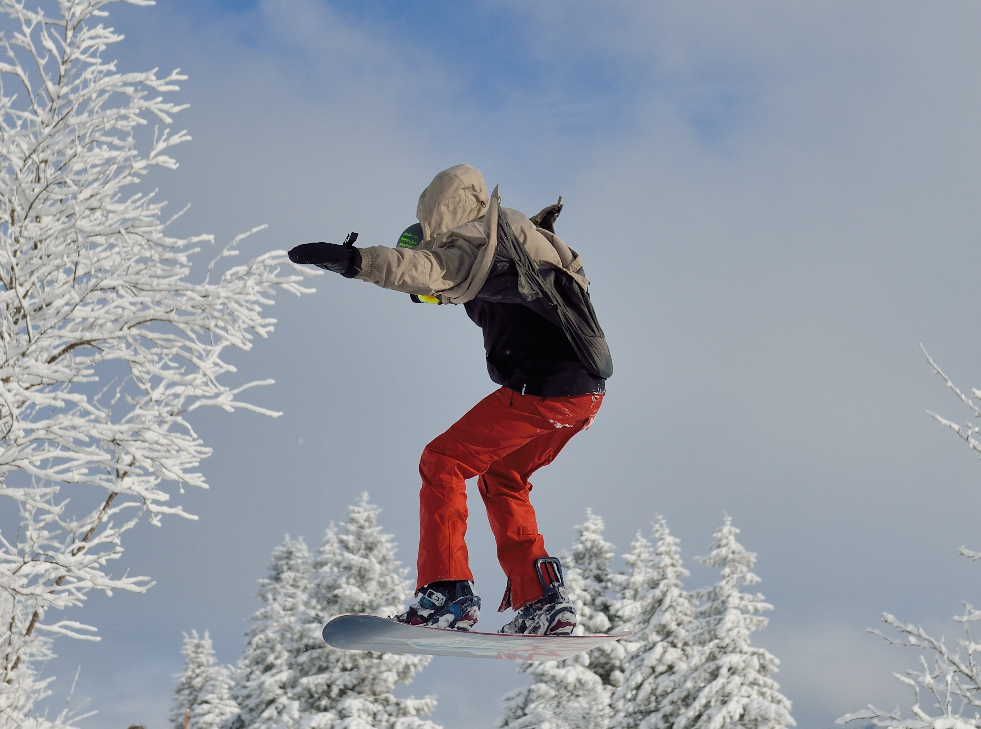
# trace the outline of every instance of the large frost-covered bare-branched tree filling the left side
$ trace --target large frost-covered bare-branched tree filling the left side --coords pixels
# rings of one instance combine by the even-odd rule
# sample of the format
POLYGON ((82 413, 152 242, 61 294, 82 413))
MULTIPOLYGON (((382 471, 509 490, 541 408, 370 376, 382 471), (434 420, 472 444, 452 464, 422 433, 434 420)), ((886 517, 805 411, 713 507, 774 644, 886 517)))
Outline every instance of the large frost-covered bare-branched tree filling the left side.
POLYGON ((123 37, 102 24, 115 0, 37 1, 50 12, 0 0, 0 496, 20 512, 0 538, 0 727, 22 725, 44 693, 31 666, 51 656, 48 638, 94 638, 49 610, 146 590, 106 569, 122 535, 141 514, 193 518, 169 503, 206 487, 210 450, 187 413, 278 414, 236 400, 269 381, 232 389, 222 357, 268 336, 271 295, 308 291, 297 282, 317 272, 282 251, 221 272, 239 236, 192 279, 211 236, 168 237, 164 204, 135 187, 177 167, 169 151, 189 137, 166 128, 183 107, 164 94, 184 76, 104 58, 123 37), (141 154, 148 117, 165 128, 141 154))

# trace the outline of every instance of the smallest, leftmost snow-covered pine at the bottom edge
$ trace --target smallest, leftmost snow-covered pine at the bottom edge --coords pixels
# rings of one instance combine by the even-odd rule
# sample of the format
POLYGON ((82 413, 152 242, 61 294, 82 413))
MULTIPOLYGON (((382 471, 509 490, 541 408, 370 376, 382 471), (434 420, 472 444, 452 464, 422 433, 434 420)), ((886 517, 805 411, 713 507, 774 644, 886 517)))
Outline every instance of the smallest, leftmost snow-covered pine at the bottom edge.
POLYGON ((229 669, 215 663, 215 650, 208 631, 184 633, 184 666, 178 674, 171 708, 173 729, 219 729, 237 710, 230 696, 229 669))

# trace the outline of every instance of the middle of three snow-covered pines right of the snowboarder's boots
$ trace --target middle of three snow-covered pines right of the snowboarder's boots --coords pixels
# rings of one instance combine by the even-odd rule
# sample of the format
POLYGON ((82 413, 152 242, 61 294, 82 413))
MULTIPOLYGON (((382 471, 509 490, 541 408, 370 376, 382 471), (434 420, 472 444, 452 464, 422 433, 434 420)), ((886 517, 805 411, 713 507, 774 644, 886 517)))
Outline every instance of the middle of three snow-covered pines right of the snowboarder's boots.
POLYGON ((695 605, 682 578, 689 571, 663 516, 657 516, 653 536, 656 546, 651 550, 638 532, 618 580, 620 618, 634 635, 623 661, 623 685, 613 695, 617 729, 667 729, 684 708, 669 697, 688 668, 688 626, 695 605))

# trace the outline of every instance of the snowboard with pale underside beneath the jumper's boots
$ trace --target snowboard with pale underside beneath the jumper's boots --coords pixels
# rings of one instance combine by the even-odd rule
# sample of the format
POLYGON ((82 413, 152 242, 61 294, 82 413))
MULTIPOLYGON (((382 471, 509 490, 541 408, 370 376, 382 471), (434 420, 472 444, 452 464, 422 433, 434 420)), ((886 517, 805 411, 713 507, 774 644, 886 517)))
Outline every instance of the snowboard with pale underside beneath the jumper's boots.
POLYGON ((338 615, 324 626, 324 640, 348 651, 463 656, 505 660, 561 660, 604 643, 616 635, 508 635, 405 625, 377 615, 338 615))

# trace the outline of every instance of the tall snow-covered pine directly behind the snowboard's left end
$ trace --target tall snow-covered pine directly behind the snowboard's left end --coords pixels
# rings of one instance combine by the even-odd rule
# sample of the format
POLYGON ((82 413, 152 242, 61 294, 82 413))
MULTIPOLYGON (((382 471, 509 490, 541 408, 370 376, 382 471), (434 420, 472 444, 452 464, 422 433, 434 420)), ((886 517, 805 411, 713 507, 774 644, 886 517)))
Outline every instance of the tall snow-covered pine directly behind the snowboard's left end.
POLYGON ((359 612, 397 614, 412 591, 407 569, 395 560, 395 543, 378 524, 381 510, 362 494, 348 507, 338 530, 332 524, 310 573, 307 601, 307 650, 294 670, 298 716, 304 729, 372 727, 439 729, 419 718, 433 711, 436 699, 396 699, 396 684, 412 682, 431 656, 339 651, 324 643, 320 631, 333 616, 359 612))

